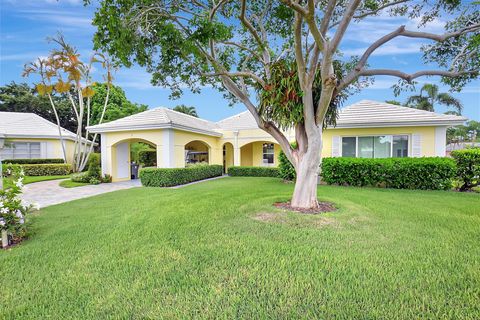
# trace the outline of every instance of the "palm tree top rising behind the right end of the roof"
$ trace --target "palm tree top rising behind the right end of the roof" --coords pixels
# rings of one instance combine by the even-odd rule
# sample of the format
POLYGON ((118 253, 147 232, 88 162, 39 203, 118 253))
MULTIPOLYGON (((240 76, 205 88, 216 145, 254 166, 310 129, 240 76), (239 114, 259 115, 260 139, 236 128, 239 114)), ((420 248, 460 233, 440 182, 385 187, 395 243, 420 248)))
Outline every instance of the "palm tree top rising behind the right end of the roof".
POLYGON ((420 89, 420 94, 408 98, 406 105, 425 111, 435 111, 436 104, 442 104, 454 110, 447 111, 449 114, 461 115, 463 106, 460 100, 446 92, 438 92, 436 84, 426 83, 420 89))

